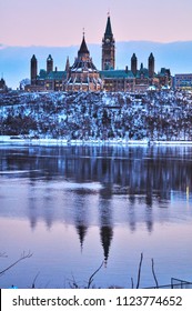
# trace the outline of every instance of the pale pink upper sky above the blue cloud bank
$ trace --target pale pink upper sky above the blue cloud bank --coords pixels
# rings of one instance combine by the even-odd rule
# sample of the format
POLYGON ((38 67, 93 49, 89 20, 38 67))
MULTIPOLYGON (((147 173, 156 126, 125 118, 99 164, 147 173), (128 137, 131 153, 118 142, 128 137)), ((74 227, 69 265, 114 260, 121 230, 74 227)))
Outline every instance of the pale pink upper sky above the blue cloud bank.
POLYGON ((192 40, 191 0, 0 0, 0 43, 100 43, 109 10, 115 41, 192 40))

